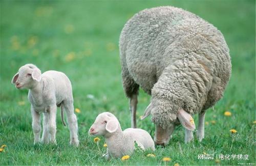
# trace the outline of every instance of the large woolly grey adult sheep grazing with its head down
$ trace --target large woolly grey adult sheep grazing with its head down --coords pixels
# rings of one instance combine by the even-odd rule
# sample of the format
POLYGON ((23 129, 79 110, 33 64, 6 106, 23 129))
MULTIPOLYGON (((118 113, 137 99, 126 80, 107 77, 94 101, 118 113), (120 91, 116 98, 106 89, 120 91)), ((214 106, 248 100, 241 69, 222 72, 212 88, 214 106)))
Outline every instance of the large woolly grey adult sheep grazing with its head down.
POLYGON ((179 123, 185 127, 185 142, 193 140, 191 115, 196 113, 201 141, 205 111, 222 98, 231 75, 229 49, 221 32, 193 13, 157 7, 145 9, 126 22, 119 47, 132 127, 136 127, 141 87, 152 96, 142 119, 152 115, 156 144, 168 144, 179 123))

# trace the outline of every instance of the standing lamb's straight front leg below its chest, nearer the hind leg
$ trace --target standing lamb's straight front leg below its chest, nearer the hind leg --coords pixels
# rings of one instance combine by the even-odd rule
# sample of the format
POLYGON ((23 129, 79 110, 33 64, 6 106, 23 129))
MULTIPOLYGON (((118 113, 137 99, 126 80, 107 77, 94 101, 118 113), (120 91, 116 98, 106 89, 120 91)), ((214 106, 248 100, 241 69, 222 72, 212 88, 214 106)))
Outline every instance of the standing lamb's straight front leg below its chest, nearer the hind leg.
POLYGON ((48 131, 49 131, 49 138, 50 142, 56 144, 56 113, 57 113, 57 106, 54 104, 50 106, 49 109, 49 124, 48 124, 48 131))

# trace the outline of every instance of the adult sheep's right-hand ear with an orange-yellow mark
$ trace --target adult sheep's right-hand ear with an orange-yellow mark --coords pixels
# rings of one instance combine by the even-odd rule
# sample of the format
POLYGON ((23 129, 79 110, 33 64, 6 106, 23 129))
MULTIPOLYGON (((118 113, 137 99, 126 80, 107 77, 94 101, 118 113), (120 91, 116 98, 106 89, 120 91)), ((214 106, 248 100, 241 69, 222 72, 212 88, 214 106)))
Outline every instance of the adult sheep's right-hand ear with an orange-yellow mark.
POLYGON ((182 124, 183 127, 185 127, 188 130, 194 131, 196 129, 194 119, 191 117, 190 114, 185 112, 184 109, 179 109, 178 119, 180 120, 180 123, 182 124))

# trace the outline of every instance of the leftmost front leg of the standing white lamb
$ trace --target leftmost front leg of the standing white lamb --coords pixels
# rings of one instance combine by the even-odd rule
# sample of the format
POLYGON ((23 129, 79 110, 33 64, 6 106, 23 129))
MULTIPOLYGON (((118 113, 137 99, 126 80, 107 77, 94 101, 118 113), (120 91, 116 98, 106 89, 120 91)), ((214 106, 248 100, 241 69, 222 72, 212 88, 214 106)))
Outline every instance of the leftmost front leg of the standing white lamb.
POLYGON ((36 144, 40 142, 40 133, 41 133, 40 114, 34 110, 32 105, 31 105, 31 115, 32 115, 32 128, 34 133, 34 144, 36 144))

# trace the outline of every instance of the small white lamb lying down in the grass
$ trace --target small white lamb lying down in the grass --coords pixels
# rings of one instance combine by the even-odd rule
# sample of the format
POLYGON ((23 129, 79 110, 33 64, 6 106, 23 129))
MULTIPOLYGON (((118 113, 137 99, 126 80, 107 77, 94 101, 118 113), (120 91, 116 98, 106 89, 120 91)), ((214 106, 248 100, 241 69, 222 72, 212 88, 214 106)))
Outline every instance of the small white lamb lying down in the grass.
POLYGON ((121 157, 133 153, 136 144, 143 150, 155 150, 151 135, 142 129, 127 128, 122 131, 118 119, 109 112, 101 113, 89 130, 90 135, 104 136, 108 149, 105 157, 121 157))

